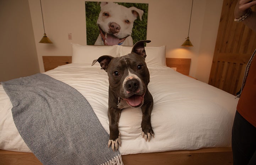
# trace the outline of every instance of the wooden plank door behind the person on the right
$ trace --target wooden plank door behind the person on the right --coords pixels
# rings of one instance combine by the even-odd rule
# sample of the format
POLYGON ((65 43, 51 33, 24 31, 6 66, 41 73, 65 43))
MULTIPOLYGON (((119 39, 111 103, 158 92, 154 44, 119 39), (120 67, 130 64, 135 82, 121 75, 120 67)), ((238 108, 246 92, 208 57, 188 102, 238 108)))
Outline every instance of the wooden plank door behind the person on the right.
MULTIPOLYGON (((234 22, 237 0, 224 0, 208 84, 235 95, 256 48, 256 32, 234 22)), ((256 7, 252 8, 256 11, 256 7)))

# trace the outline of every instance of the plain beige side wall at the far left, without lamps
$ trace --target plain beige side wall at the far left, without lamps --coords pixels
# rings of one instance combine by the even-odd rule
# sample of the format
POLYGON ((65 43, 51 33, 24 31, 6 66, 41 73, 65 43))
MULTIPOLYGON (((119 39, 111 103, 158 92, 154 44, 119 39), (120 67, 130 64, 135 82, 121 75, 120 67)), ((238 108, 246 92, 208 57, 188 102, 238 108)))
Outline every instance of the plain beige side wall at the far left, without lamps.
POLYGON ((28 0, 0 0, 0 81, 39 73, 28 0))

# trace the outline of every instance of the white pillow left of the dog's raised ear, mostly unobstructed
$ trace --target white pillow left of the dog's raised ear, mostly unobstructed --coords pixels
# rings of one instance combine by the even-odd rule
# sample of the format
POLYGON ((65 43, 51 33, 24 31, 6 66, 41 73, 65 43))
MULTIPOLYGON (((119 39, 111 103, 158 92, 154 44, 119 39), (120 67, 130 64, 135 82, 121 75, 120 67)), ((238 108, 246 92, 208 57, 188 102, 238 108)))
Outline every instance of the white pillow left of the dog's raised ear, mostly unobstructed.
POLYGON ((72 45, 72 63, 92 63, 93 60, 98 59, 103 55, 110 55, 119 57, 119 45, 113 46, 93 46, 93 45, 79 45, 71 43, 72 45))

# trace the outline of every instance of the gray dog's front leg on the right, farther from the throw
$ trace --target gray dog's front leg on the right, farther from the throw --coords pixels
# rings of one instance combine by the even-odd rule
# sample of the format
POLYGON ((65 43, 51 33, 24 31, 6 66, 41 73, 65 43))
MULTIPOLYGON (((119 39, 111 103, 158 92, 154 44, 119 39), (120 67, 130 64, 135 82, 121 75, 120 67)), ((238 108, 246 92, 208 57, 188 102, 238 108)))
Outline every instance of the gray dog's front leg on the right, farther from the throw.
POLYGON ((151 126, 152 109, 153 109, 153 97, 149 93, 148 102, 144 103, 143 106, 141 107, 141 110, 142 110, 142 122, 141 122, 142 137, 145 138, 146 141, 147 140, 150 141, 151 136, 154 137, 154 131, 151 126))

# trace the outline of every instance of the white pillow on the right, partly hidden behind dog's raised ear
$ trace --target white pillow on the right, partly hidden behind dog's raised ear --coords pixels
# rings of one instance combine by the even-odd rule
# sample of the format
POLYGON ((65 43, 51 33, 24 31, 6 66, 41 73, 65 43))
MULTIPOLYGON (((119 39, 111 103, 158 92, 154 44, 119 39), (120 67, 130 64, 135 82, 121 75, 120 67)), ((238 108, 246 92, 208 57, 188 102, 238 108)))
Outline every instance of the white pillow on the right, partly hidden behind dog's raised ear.
MULTIPOLYGON (((131 53, 132 46, 120 46, 120 56, 131 53)), ((166 66, 165 46, 145 47, 147 65, 166 66)))

